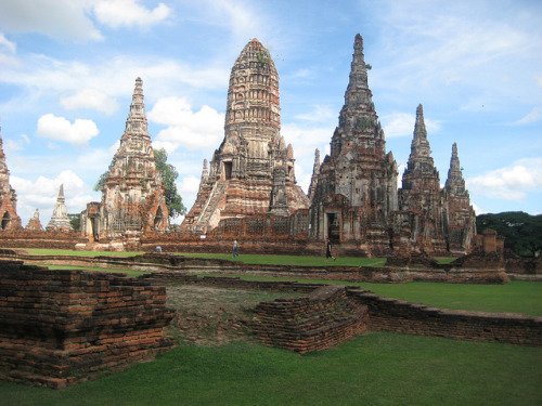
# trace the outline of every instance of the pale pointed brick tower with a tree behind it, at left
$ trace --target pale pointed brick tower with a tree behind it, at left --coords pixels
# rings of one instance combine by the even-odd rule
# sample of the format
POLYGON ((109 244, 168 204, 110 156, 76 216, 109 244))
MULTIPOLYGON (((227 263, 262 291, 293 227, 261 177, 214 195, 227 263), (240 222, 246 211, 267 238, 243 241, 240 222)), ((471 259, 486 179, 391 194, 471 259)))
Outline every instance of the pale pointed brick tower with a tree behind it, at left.
POLYGON ((102 201, 91 202, 81 215, 81 230, 90 240, 138 238, 169 226, 165 187, 156 169, 147 132, 143 81, 136 79, 130 113, 120 145, 102 189, 102 201))

